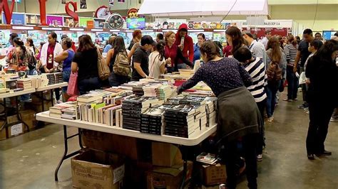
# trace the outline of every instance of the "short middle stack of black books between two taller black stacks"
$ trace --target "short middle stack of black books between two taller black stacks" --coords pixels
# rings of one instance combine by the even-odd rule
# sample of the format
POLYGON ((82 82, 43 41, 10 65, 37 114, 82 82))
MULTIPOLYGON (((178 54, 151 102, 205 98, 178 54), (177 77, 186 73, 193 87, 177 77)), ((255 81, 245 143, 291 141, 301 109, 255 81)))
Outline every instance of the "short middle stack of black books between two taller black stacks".
POLYGON ((141 114, 140 120, 140 132, 148 134, 161 135, 164 133, 164 109, 158 107, 148 108, 143 114, 141 114))

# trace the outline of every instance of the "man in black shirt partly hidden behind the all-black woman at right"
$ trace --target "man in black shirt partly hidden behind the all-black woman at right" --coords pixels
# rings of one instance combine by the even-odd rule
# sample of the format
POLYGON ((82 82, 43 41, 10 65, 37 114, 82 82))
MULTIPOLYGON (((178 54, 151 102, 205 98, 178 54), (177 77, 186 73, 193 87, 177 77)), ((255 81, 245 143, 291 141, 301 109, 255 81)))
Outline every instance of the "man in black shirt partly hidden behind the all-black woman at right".
MULTIPOLYGON (((300 60, 300 72, 301 73, 304 72, 304 64, 307 61, 309 55, 311 54, 308 50, 309 43, 311 41, 314 41, 312 30, 305 29, 303 32, 303 38, 304 39, 298 45, 297 56, 295 59, 295 65, 293 69, 294 72, 297 72, 297 65, 299 63, 299 60, 300 60)), ((305 84, 302 84, 302 95, 304 103, 298 107, 299 109, 305 109, 309 107, 309 105, 307 104, 307 87, 305 84)))

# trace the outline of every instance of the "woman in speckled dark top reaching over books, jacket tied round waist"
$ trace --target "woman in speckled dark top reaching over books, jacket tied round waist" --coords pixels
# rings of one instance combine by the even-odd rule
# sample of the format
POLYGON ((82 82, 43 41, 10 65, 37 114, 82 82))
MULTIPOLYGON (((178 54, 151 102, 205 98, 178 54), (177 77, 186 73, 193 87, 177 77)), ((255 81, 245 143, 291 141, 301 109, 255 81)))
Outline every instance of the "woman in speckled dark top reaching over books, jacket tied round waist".
POLYGON ((217 144, 225 146, 223 157, 227 166, 227 186, 236 187, 237 142, 242 139, 249 188, 257 188, 256 142, 262 120, 255 99, 245 86, 252 85, 250 75, 234 58, 221 58, 212 41, 200 46, 206 63, 193 77, 178 88, 178 93, 205 82, 217 96, 217 144), (226 155, 225 155, 226 154, 226 155))

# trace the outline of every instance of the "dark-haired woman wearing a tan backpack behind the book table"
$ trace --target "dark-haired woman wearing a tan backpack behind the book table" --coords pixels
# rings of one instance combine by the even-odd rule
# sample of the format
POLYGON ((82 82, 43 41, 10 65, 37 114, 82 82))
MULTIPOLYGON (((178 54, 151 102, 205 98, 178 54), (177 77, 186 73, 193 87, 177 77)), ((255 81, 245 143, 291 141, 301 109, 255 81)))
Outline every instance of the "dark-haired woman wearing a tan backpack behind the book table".
MULTIPOLYGON (((113 71, 113 66, 116 61, 117 55, 123 56, 128 60, 128 53, 124 44, 123 37, 117 36, 113 43, 113 48, 108 50, 106 62, 111 69, 111 75, 109 75, 109 83, 113 87, 118 87, 123 83, 128 82, 130 79, 128 76, 116 75, 113 71)), ((129 60, 128 60, 129 61, 129 60)))

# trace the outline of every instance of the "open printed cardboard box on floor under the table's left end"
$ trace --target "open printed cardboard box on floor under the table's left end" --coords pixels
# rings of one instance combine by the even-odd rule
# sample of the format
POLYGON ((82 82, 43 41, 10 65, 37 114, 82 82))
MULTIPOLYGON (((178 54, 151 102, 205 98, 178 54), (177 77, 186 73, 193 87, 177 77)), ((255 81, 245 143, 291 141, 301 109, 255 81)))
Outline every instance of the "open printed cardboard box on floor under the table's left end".
POLYGON ((122 188, 124 158, 113 153, 86 150, 71 159, 73 188, 122 188))

